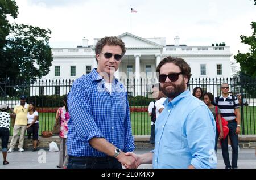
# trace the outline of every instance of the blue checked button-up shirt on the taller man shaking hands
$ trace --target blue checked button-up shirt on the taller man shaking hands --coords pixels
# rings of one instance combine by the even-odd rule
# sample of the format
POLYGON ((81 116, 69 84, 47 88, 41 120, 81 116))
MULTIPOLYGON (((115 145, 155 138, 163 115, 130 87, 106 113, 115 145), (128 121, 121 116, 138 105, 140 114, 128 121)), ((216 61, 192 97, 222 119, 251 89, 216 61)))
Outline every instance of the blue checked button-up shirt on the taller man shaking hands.
POLYGON ((92 138, 105 138, 124 152, 134 151, 127 91, 114 79, 112 93, 93 69, 76 79, 68 95, 67 149, 69 156, 105 157, 90 146, 92 138))

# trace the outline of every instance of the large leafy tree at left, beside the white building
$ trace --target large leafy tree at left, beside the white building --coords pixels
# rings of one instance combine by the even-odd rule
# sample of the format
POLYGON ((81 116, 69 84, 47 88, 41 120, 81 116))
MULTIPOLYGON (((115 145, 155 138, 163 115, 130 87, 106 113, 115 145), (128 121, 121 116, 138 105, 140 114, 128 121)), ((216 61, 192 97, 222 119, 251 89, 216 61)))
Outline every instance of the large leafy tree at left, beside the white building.
POLYGON ((49 46, 51 31, 31 25, 9 24, 6 15, 11 14, 16 18, 18 14, 15 1, 0 0, 0 12, 0 31, 3 32, 0 78, 33 83, 47 75, 53 60, 49 46))

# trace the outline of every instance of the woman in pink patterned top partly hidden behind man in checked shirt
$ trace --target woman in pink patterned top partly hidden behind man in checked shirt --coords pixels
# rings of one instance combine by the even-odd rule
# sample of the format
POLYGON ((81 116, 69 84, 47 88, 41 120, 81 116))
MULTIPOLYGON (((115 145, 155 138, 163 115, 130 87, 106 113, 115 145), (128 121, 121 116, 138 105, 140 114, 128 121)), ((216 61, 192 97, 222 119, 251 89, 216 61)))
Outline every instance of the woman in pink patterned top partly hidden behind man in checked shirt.
POLYGON ((59 136, 60 136, 60 160, 57 168, 67 168, 68 165, 68 152, 67 152, 67 134, 68 134, 68 105, 67 105, 67 95, 63 99, 64 106, 59 108, 56 113, 56 122, 59 121, 59 136))

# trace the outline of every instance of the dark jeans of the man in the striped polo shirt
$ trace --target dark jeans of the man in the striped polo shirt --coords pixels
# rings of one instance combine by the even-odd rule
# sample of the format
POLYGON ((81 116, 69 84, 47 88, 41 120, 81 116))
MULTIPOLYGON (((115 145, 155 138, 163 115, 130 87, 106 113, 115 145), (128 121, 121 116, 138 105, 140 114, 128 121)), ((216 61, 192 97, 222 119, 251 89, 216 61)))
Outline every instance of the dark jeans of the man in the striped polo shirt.
POLYGON ((238 160, 238 135, 236 134, 237 122, 228 123, 229 128, 229 137, 232 145, 232 162, 230 165, 229 161, 229 151, 228 151, 228 137, 224 140, 221 140, 221 150, 224 163, 226 168, 237 168, 238 160))

